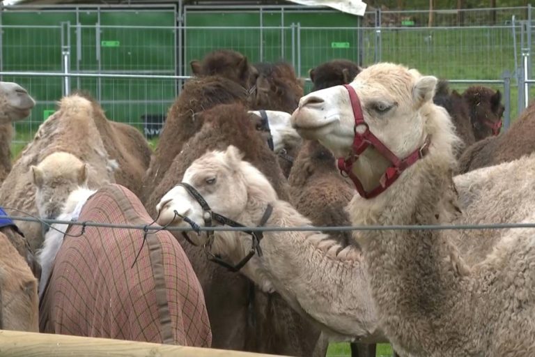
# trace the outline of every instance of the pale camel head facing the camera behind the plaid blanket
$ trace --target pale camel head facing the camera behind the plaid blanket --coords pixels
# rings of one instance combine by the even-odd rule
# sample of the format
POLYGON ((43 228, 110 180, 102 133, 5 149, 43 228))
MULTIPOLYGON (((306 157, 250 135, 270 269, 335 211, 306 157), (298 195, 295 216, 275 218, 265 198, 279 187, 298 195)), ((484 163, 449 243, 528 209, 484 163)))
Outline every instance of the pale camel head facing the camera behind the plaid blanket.
POLYGON ((70 193, 87 185, 88 166, 75 155, 60 151, 32 166, 31 175, 40 217, 55 219, 70 193))

